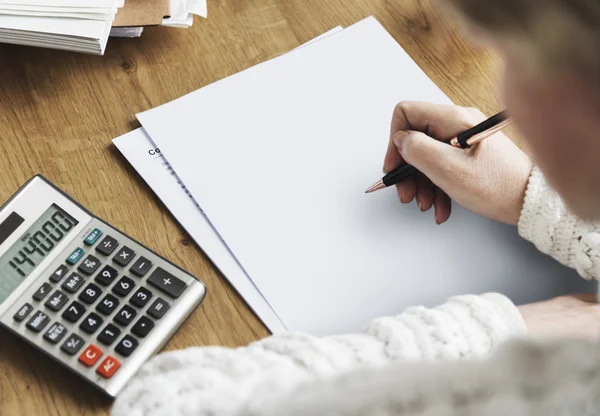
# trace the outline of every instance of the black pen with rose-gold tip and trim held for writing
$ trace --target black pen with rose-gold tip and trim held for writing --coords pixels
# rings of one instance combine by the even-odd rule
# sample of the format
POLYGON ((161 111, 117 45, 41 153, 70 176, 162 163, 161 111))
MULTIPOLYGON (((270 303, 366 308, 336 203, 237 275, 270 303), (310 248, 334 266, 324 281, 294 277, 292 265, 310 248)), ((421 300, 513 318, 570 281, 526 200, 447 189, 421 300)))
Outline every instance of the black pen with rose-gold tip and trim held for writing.
MULTIPOLYGON (((508 116, 508 113, 506 111, 502 111, 501 113, 498 113, 495 116, 492 116, 479 123, 475 127, 472 127, 469 130, 446 141, 445 143, 461 149, 468 149, 469 147, 508 127, 511 123, 512 119, 508 116)), ((414 175, 416 172, 418 172, 417 168, 409 164, 404 164, 385 175, 383 179, 367 189, 365 193, 369 194, 371 192, 387 188, 388 186, 396 185, 409 176, 414 175)))

